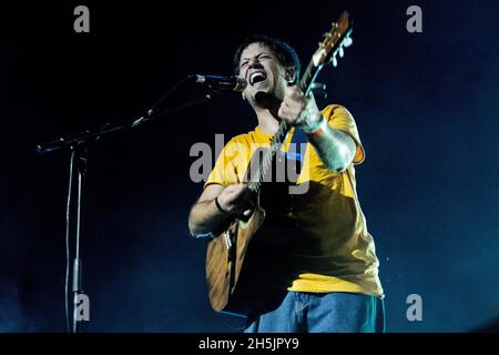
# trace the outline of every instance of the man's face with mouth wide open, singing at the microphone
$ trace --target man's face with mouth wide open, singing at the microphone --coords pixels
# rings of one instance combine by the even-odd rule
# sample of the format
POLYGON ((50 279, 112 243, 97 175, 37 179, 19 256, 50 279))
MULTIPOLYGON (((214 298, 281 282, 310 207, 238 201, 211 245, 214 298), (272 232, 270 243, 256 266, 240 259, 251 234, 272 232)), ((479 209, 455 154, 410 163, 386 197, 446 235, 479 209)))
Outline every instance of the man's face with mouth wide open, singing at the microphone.
POLYGON ((289 74, 274 52, 264 43, 252 43, 241 53, 240 77, 246 79, 244 95, 255 104, 255 93, 263 91, 284 99, 289 74))

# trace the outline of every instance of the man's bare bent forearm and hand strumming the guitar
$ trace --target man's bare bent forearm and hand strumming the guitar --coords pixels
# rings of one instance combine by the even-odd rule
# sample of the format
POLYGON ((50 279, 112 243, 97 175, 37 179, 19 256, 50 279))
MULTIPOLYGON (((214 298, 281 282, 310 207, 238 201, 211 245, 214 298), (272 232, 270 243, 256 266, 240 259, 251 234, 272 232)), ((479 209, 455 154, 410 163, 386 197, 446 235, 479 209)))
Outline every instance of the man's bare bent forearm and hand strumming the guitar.
POLYGON ((208 235, 234 215, 248 215, 251 191, 245 184, 207 185, 189 214, 189 230, 193 236, 208 235), (218 202, 220 209, 215 200, 218 202))

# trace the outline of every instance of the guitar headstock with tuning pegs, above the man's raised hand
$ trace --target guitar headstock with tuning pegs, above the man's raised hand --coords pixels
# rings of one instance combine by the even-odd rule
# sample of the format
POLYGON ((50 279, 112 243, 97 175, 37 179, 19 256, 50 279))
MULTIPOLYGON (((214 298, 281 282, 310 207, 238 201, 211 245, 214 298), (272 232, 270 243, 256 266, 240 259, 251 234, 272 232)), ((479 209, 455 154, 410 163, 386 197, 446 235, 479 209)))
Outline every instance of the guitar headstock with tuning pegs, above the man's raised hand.
POLYGON ((350 47, 353 22, 348 12, 344 11, 333 26, 329 32, 324 34, 324 40, 319 42, 312 60, 316 68, 332 62, 334 67, 338 64, 337 55, 344 55, 344 48, 350 47))

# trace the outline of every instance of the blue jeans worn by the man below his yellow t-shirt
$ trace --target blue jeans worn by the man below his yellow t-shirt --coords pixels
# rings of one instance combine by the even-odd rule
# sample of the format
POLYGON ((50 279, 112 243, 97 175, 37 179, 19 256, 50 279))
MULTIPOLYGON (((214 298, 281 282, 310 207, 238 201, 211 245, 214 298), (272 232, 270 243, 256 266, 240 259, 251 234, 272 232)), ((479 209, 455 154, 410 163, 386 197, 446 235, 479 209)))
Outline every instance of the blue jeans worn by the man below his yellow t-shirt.
POLYGON ((245 333, 383 333, 383 300, 357 293, 289 291, 283 303, 249 320, 245 333))

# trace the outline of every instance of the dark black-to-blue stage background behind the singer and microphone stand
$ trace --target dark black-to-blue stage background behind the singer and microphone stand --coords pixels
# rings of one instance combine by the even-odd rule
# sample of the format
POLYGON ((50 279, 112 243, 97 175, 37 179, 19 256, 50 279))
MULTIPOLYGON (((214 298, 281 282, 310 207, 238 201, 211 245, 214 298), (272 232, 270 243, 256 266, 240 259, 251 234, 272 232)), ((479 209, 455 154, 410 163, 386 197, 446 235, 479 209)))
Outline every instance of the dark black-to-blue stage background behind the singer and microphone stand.
MULTIPOLYGON (((231 74, 238 42, 267 33, 306 64, 346 9, 354 45, 325 69, 367 152, 358 193, 376 240, 388 332, 493 329, 499 317, 499 2, 214 1, 2 4, 0 331, 63 332, 69 153, 35 145, 144 113, 190 73, 231 74), (90 9, 90 33, 73 9, 90 9), (408 33, 406 9, 422 8, 408 33), (406 297, 422 297, 408 322, 406 297)), ((172 104, 200 98, 187 85, 172 104)), ((320 104, 329 101, 319 100, 320 104)), ((205 243, 189 235, 196 142, 256 125, 237 94, 98 142, 84 186, 91 332, 234 332, 210 308, 205 243)))

